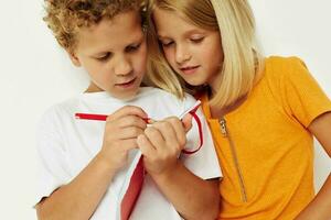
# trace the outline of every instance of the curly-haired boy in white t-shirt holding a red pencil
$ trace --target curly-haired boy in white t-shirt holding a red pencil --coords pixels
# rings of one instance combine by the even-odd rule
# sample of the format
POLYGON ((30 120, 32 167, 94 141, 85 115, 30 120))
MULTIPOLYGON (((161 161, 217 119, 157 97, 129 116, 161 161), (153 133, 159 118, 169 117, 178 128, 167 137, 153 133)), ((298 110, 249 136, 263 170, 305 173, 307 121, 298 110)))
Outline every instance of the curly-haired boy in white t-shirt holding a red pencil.
MULTIPOLYGON (((141 151, 148 174, 131 219, 180 219, 179 213, 214 219, 218 212, 214 178, 221 170, 205 121, 203 147, 178 158, 191 119, 167 118, 191 107, 193 98, 180 100, 140 87, 147 59, 141 6, 138 0, 46 1, 45 21, 73 64, 86 69, 90 84, 41 120, 40 219, 116 219, 118 191, 135 148, 141 151), (74 118, 77 112, 109 117, 106 122, 84 121, 74 118), (147 128, 146 118, 158 122, 147 128)), ((190 146, 196 136, 193 128, 190 146)))

